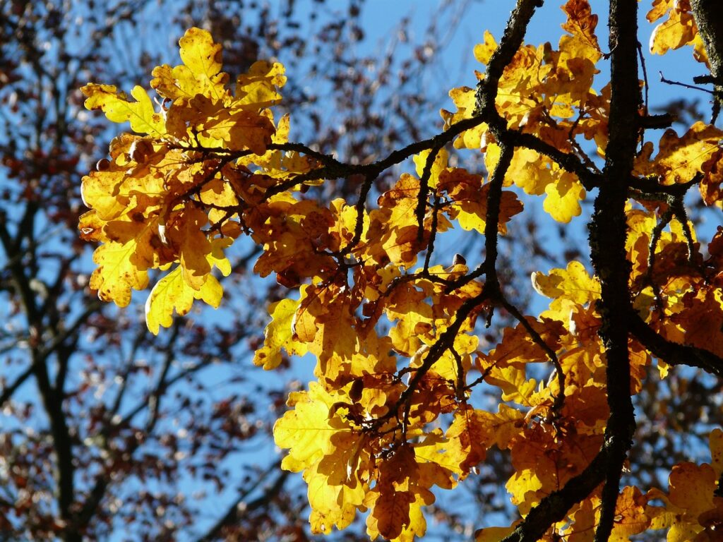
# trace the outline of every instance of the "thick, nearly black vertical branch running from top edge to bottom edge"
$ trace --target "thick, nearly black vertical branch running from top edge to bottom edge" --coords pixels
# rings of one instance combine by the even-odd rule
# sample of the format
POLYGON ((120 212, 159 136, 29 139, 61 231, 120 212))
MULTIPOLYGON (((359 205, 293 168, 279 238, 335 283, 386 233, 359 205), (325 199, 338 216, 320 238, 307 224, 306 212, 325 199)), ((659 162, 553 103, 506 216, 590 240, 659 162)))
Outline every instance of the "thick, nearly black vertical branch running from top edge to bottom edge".
POLYGON ((638 132, 638 109, 641 106, 638 87, 637 53, 638 4, 630 0, 613 0, 609 11, 609 48, 611 53, 609 143, 605 152, 603 182, 595 199, 595 212, 590 225, 591 261, 600 279, 598 310, 602 317, 599 335, 605 346, 607 361, 607 403, 610 416, 605 430, 609 450, 602 489, 602 510, 595 541, 607 541, 615 518, 615 504, 623 463, 632 446, 635 414, 630 399, 630 358, 628 356, 628 325, 621 316, 630 307, 628 280, 630 264, 625 250, 628 236, 625 202, 633 171, 638 132))

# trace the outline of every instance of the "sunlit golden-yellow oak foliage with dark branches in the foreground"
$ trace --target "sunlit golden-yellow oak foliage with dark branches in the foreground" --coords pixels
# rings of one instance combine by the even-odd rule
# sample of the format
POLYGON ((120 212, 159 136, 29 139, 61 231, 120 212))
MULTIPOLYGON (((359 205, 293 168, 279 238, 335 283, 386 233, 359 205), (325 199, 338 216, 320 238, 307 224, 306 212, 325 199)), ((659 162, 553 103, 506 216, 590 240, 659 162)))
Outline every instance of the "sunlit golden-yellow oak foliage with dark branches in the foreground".
MULTIPOLYGON (((723 131, 698 122, 646 137, 671 120, 643 100, 637 2, 611 3, 609 48, 586 0, 562 7, 557 45, 523 43, 541 3, 518 1, 504 35, 484 33, 477 85, 450 90, 442 132, 375 163, 289 142, 289 117, 273 112, 283 66, 258 61, 230 82, 221 46, 197 28, 179 42, 182 64, 153 70, 160 106, 142 87, 130 97, 82 88, 87 108, 132 130, 82 180, 91 210, 80 231, 100 244, 90 285, 101 299, 127 306, 157 270, 152 332, 196 300, 216 307, 241 236, 262 247, 254 271, 289 289, 269 306, 254 363, 315 359, 317 380, 291 393, 274 429, 282 467, 308 484, 314 533, 367 512, 370 538, 421 537, 432 489, 465 483, 493 447, 510 454, 506 489, 521 519, 478 541, 662 529, 669 541, 707 541, 723 528, 719 429, 711 463, 672 465, 668 491, 620 486, 636 469, 631 395, 643 381, 680 365, 723 375, 723 231, 699 240, 685 208, 693 191, 722 206, 723 131), (601 85, 604 63, 612 77, 601 85), (480 152, 484 168, 450 165, 480 152), (380 173, 400 163, 408 173, 380 190, 380 173), (340 177, 358 195, 321 201, 315 187, 340 177), (497 267, 498 238, 528 196, 563 224, 594 201, 590 262, 533 274, 550 300, 536 317, 510 301, 497 267), (484 236, 478 267, 435 262, 452 229, 484 236), (489 343, 480 327, 500 314, 515 324, 489 343), (496 408, 478 404, 482 387, 496 408)), ((711 64, 690 4, 654 1, 651 50, 692 45, 702 69, 711 64)))

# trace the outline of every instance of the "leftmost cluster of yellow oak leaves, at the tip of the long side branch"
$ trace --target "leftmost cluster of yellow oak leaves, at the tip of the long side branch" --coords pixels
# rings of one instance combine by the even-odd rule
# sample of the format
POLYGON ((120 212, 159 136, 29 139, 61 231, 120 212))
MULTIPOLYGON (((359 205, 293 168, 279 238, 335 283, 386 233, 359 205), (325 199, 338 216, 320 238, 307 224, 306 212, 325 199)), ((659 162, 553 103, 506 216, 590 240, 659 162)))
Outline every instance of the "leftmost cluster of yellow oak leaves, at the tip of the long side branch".
POLYGON ((212 163, 193 153, 222 147, 230 157, 234 152, 263 154, 275 132, 265 108, 280 99, 274 85, 286 80, 282 67, 254 64, 239 77, 232 96, 226 90, 228 76, 221 72, 220 53, 221 46, 205 31, 191 30, 184 36, 185 64, 174 69, 159 66, 153 72, 153 87, 171 103, 161 113, 155 112, 142 87, 134 88, 137 101, 132 102, 112 85, 82 88, 88 108, 100 108, 116 122, 130 121, 134 132, 147 134, 114 139, 111 160, 100 160, 98 171, 83 179, 83 200, 93 210, 80 219, 80 230, 86 240, 103 242, 93 257, 98 269, 90 287, 119 306, 129 304, 132 288, 147 286, 148 269, 176 264, 148 299, 147 322, 154 332, 159 324, 171 324, 174 309, 186 314, 194 297, 218 306, 222 289, 210 272, 212 267, 224 275, 231 272, 223 257, 228 242, 209 241, 202 228, 210 220, 211 228, 223 236, 238 236, 239 223, 229 220, 239 205, 236 191, 250 191, 249 196, 254 192, 254 186, 243 186, 248 169, 229 164, 232 158, 212 163), (210 182, 217 172, 234 176, 236 188, 220 179, 210 182), (194 196, 208 207, 208 215, 194 204, 194 196))

